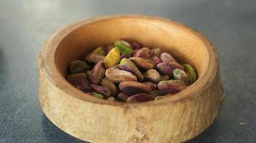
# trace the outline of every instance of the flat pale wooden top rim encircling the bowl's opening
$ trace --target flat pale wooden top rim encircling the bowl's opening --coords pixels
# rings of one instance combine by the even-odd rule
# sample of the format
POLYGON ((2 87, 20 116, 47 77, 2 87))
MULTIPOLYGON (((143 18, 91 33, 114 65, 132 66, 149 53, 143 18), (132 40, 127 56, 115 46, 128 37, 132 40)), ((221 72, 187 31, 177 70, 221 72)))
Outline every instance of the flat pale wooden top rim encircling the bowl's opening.
POLYGON ((211 41, 206 38, 203 34, 199 33, 195 29, 192 29, 189 26, 186 26, 185 24, 182 24, 178 21, 173 21, 172 19, 163 18, 160 16, 148 16, 148 15, 140 15, 140 14, 121 14, 121 15, 108 15, 108 16, 97 16, 89 19, 82 19, 80 21, 76 21, 74 23, 68 24, 64 26, 63 28, 58 29, 53 33, 50 37, 47 38, 47 40, 42 45, 42 48, 37 56, 37 62, 38 67, 40 71, 42 71, 42 74, 45 75, 47 79, 50 80, 50 82, 57 87, 58 89, 62 90, 66 94, 76 97, 78 99, 83 100, 84 102, 93 102, 95 104, 106 104, 110 106, 157 106, 157 105, 164 105, 164 104, 172 104, 175 102, 185 102, 186 100, 198 97, 198 96, 204 96, 202 94, 206 89, 210 87, 212 82, 214 81, 214 78, 216 77, 218 71, 219 71, 219 56, 216 51, 216 48, 211 44, 211 41), (76 29, 79 29, 81 26, 84 26, 86 24, 92 24, 94 22, 104 21, 107 19, 123 19, 123 18, 135 18, 135 19, 153 19, 157 21, 163 21, 166 23, 172 23, 177 26, 180 26, 180 28, 186 29, 190 32, 192 32, 196 37, 198 37, 206 46, 206 49, 208 51, 209 56, 209 63, 207 65, 206 71, 204 74, 201 75, 200 78, 196 80, 191 86, 189 86, 187 89, 183 90, 182 92, 179 92, 178 94, 174 94, 173 96, 168 97, 167 99, 163 100, 157 100, 157 101, 150 101, 150 102, 140 102, 140 103, 127 103, 127 102, 110 102, 107 100, 102 99, 96 99, 94 97, 84 96, 86 93, 82 92, 75 87, 73 87, 71 84, 68 83, 68 81, 65 80, 65 84, 68 84, 69 87, 73 87, 73 89, 66 88, 63 83, 61 83, 58 80, 63 80, 63 75, 58 73, 58 69, 55 66, 55 51, 58 48, 58 45, 60 44, 60 41, 62 41, 65 36, 68 36, 72 31, 75 31, 76 29), (55 41, 55 42, 52 42, 55 41), (211 63, 211 64, 210 64, 211 63), (56 78, 62 77, 62 78, 56 78), (55 78, 53 78, 55 77, 55 78))

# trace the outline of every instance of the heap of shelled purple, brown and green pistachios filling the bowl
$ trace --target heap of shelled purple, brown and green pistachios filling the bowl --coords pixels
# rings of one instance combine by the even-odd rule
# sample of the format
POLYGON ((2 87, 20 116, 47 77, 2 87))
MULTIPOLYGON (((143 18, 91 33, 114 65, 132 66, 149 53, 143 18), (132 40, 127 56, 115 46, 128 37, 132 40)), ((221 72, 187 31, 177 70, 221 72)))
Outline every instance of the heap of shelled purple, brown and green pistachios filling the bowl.
POLYGON ((99 46, 69 66, 68 82, 93 97, 113 102, 147 102, 186 89, 196 81, 193 66, 183 66, 160 49, 137 42, 99 46))

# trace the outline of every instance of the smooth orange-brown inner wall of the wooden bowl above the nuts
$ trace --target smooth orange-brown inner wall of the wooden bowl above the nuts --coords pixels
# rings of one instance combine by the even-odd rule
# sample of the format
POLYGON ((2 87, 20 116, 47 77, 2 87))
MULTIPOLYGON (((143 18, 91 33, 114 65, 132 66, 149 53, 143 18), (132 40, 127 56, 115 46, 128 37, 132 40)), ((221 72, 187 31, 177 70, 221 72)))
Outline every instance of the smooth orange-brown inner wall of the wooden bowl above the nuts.
POLYGON ((64 36, 54 53, 55 66, 63 80, 70 61, 117 39, 138 41, 143 46, 173 54, 180 63, 189 63, 196 68, 198 81, 209 66, 206 44, 183 24, 145 17, 116 17, 88 22, 64 36))

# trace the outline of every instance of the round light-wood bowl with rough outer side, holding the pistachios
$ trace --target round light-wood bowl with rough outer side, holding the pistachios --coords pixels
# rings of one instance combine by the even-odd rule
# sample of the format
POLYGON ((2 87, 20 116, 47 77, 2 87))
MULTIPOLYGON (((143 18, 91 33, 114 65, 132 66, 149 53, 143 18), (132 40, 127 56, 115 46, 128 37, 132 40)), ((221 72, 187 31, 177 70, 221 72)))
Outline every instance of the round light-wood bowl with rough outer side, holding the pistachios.
POLYGON ((219 114, 224 95, 214 46, 197 31, 152 16, 101 16, 69 24, 52 34, 38 57, 40 103, 50 121, 88 142, 184 142, 219 114), (68 64, 117 39, 160 48, 196 67, 198 80, 159 101, 127 104, 96 99, 69 84, 68 64))

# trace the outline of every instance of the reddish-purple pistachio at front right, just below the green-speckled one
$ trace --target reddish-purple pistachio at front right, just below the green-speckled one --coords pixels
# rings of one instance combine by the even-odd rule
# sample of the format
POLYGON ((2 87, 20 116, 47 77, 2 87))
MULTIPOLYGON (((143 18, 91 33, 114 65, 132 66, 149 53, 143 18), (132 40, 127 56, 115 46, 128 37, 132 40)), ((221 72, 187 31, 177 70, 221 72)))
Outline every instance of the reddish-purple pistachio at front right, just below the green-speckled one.
POLYGON ((165 92, 165 94, 176 94, 181 90, 186 89, 184 82, 180 80, 162 81, 157 84, 157 87, 165 92))

